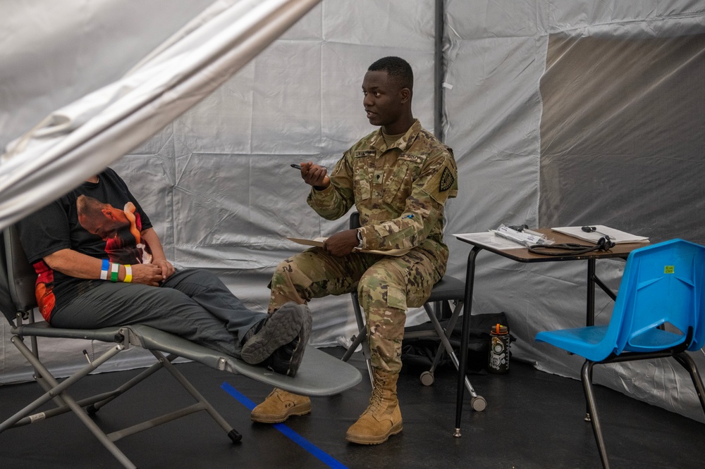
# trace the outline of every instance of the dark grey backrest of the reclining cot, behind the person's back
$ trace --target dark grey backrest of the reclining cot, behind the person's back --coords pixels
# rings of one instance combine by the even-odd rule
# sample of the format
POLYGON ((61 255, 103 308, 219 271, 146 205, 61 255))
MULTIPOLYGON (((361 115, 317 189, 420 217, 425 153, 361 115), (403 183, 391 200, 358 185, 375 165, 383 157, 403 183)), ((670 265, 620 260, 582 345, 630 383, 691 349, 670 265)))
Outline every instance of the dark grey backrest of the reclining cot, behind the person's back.
POLYGON ((18 311, 31 311, 37 306, 35 297, 37 273, 27 261, 16 226, 6 227, 3 230, 3 247, 4 265, 1 268, 6 274, 7 294, 13 307, 11 311, 8 311, 10 305, 4 306, 3 313, 12 323, 18 311))

